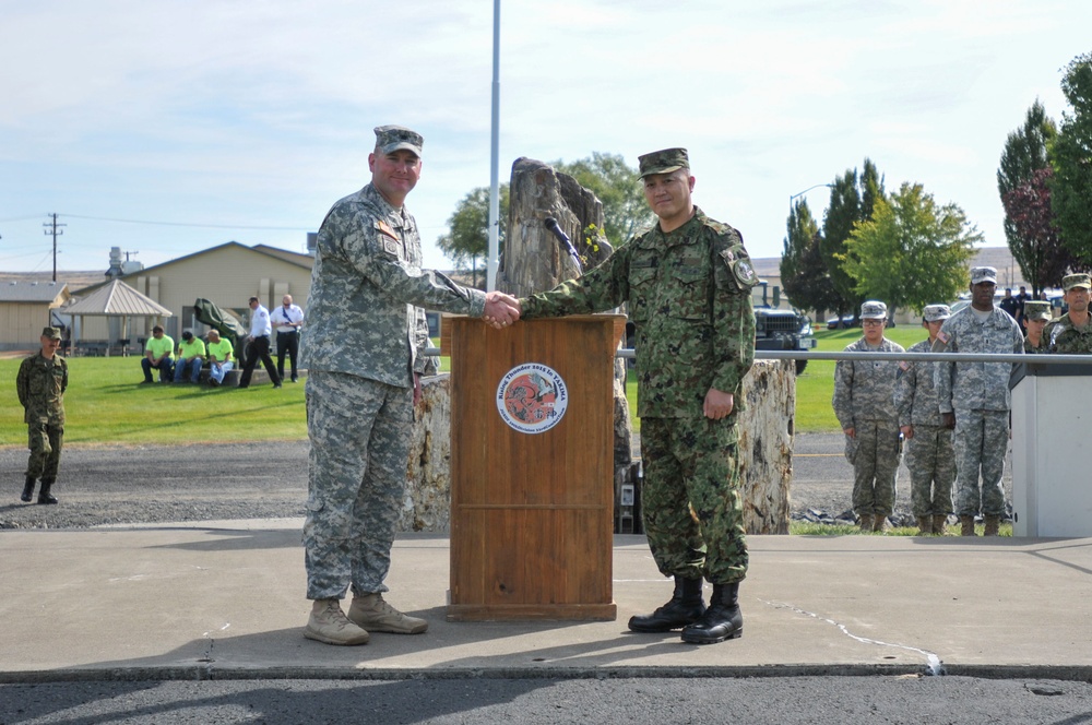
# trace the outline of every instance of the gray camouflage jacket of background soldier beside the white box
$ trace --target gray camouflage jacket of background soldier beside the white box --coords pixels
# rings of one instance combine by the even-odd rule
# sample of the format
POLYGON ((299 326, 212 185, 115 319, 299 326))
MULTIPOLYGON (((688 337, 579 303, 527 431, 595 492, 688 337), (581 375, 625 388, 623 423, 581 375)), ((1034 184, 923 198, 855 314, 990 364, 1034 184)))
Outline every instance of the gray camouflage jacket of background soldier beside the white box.
MULTIPOLYGON (((995 307, 985 322, 978 322, 968 306, 945 320, 933 352, 1023 354, 1023 335, 1005 310, 995 307)), ((941 413, 1008 411, 1012 405, 1008 362, 937 362, 935 370, 941 413)))

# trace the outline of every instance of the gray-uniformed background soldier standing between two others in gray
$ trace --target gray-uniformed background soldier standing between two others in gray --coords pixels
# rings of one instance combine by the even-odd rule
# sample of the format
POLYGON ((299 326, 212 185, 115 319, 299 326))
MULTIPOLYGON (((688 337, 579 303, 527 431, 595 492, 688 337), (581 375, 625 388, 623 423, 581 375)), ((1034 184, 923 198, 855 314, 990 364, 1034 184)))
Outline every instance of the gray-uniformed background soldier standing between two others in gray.
MULTIPOLYGON (((907 353, 928 353, 945 320, 952 314, 947 305, 927 305, 922 326, 928 340, 911 345, 907 353)), ((943 535, 952 512, 952 482, 956 480, 956 451, 952 431, 945 427, 937 405, 933 362, 903 360, 894 388, 899 430, 906 440, 910 470, 910 502, 922 534, 943 535)))

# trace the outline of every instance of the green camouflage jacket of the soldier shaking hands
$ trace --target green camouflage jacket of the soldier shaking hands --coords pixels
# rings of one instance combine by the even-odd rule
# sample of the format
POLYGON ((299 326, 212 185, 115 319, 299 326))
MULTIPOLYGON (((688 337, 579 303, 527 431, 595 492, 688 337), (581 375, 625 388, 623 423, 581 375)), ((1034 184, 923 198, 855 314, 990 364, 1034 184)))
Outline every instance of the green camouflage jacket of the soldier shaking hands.
POLYGON ((637 414, 700 417, 710 388, 734 393, 755 360, 757 283, 739 233, 695 210, 668 234, 656 224, 602 264, 521 299, 523 317, 562 317, 629 302, 637 330, 637 414))

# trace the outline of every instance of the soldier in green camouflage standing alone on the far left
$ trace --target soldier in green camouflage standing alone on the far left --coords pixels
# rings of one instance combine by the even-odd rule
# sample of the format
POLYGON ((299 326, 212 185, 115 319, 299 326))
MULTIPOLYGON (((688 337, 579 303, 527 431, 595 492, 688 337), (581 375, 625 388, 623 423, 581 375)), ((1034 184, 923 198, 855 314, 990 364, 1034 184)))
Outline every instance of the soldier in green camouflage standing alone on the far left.
POLYGON ((68 389, 68 362, 57 354, 60 346, 61 331, 46 328, 41 331, 41 349, 24 359, 15 375, 15 391, 23 406, 31 449, 26 482, 20 497, 27 503, 38 478, 41 479, 38 503, 57 503, 49 489, 57 480, 64 444, 64 391, 68 389))

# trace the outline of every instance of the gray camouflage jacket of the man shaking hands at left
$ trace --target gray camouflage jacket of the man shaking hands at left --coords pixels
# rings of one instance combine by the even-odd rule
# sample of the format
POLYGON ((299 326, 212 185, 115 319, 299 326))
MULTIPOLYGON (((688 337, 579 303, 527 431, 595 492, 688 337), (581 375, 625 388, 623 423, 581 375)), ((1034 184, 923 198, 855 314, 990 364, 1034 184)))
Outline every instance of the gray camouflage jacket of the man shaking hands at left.
POLYGON ((480 317, 485 293, 420 269, 413 216, 370 183, 333 205, 319 228, 300 367, 413 385, 435 372, 422 308, 480 317))

